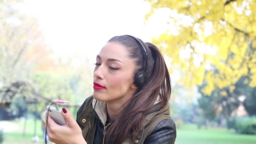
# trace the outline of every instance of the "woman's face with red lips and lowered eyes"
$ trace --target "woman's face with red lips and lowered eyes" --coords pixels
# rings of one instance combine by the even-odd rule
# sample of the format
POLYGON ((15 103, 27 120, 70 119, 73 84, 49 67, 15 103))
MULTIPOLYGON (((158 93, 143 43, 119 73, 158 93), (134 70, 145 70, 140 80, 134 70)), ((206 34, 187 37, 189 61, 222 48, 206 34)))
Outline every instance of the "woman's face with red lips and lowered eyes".
POLYGON ((129 99, 135 92, 136 64, 125 46, 107 43, 96 57, 93 75, 93 96, 99 101, 129 99))

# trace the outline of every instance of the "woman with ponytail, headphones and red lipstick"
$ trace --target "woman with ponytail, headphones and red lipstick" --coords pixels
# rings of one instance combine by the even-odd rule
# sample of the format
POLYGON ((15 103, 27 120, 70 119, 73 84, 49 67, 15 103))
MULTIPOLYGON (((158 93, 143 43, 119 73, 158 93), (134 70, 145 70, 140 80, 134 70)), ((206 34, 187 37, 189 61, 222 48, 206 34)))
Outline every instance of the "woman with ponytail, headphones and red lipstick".
POLYGON ((48 136, 57 144, 174 144, 176 126, 168 100, 171 80, 160 51, 151 43, 112 37, 96 57, 93 96, 67 125, 49 118, 48 136))

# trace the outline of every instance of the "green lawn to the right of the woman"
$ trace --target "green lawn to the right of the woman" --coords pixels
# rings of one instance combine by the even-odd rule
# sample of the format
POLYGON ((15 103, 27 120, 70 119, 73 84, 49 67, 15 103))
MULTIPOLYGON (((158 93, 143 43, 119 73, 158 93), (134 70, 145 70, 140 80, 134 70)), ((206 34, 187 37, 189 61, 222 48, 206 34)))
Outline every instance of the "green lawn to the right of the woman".
POLYGON ((226 128, 201 128, 184 125, 177 129, 175 144, 256 144, 255 135, 235 134, 226 128))

